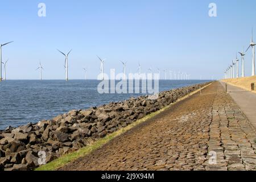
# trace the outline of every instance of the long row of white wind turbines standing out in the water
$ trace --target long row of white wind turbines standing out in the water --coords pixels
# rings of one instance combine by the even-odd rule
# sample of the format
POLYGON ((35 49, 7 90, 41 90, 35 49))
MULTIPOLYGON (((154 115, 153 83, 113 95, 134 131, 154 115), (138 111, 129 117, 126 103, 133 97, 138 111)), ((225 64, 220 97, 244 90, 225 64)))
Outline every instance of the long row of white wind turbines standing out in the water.
MULTIPOLYGON (((5 61, 5 63, 2 62, 2 47, 3 46, 6 46, 7 44, 10 44, 10 43, 13 43, 13 42, 9 42, 9 43, 5 43, 5 44, 0 44, 0 60, 1 60, 1 64, 0 64, 0 81, 2 80, 6 80, 6 64, 9 60, 5 61), (5 73, 4 73, 4 78, 2 78, 2 64, 4 65, 4 70, 5 70, 5 73)), ((69 80, 68 78, 68 56, 69 54, 71 53, 71 51, 69 51, 67 54, 65 54, 64 52, 61 52, 59 49, 57 49, 57 51, 59 51, 62 55, 65 56, 65 64, 64 64, 64 68, 65 68, 65 80, 69 80)), ((106 59, 101 59, 99 56, 97 56, 98 59, 100 60, 101 62, 101 66, 100 66, 100 72, 101 72, 101 80, 104 80, 105 77, 104 77, 104 65, 105 65, 105 60, 106 59)), ((122 65, 123 65, 123 75, 124 75, 124 79, 126 80, 126 67, 127 67, 127 61, 121 61, 122 65)), ((84 69, 84 72, 85 72, 85 80, 87 80, 87 69, 86 68, 83 68, 84 69)), ((36 68, 36 71, 37 70, 40 70, 40 80, 43 80, 43 77, 42 77, 42 72, 44 70, 42 64, 41 64, 41 61, 39 62, 39 67, 36 68)), ((153 75, 153 69, 152 68, 149 68, 147 69, 149 72, 150 72, 150 75, 151 75, 151 78, 152 78, 152 75, 153 75)), ((142 67, 141 67, 141 64, 139 63, 139 67, 137 69, 138 71, 138 74, 139 74, 139 79, 142 79, 142 67)), ((190 75, 188 75, 187 73, 183 73, 183 72, 172 72, 172 71, 169 71, 170 73, 170 78, 167 78, 167 69, 164 69, 163 70, 164 74, 165 74, 165 80, 189 80, 189 77, 190 75), (174 74, 174 79, 172 79, 172 73, 174 74)), ((160 69, 158 68, 157 69, 157 73, 160 75, 160 69)))

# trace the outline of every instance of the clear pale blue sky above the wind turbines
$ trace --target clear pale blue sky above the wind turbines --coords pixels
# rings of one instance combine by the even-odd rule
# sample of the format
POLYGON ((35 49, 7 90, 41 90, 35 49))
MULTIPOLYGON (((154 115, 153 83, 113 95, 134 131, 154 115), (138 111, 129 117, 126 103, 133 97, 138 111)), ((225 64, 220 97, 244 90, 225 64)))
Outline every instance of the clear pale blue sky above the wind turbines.
MULTIPOLYGON (((94 0, 2 1, 0 44, 8 79, 64 79, 69 55, 69 78, 82 79, 105 71, 127 72, 152 67, 180 71, 192 79, 220 79, 236 52, 249 46, 251 28, 256 38, 254 0, 94 0), (38 16, 38 4, 46 4, 46 16, 38 16), (217 17, 210 17, 209 3, 216 3, 217 17)), ((251 74, 251 49, 245 56, 246 76, 251 74)), ((240 55, 238 58, 241 59, 240 55)), ((162 72, 163 73, 163 72, 162 72)), ((164 75, 162 74, 162 78, 164 75)))

